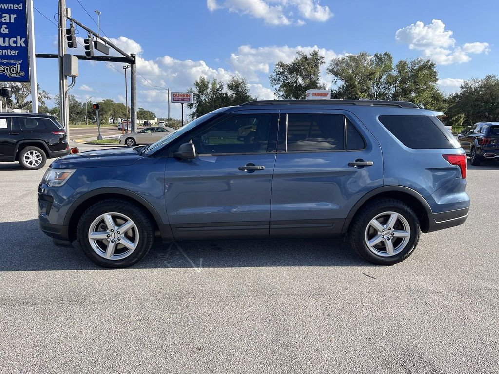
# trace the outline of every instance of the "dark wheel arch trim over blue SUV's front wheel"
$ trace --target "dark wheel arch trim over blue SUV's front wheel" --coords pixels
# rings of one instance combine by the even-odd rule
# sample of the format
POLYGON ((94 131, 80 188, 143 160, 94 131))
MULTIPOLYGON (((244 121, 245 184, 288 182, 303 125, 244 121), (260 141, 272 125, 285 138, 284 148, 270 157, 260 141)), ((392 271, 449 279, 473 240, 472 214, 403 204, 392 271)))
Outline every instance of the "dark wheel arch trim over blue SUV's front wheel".
POLYGON ((83 215, 85 210, 96 202, 112 198, 119 198, 142 207, 151 218, 151 222, 154 224, 155 232, 159 230, 161 237, 164 239, 168 239, 172 236, 170 225, 163 223, 159 213, 146 199, 132 191, 109 187, 99 188, 87 192, 78 197, 71 204, 71 207, 68 209, 66 216, 64 217, 64 225, 67 225, 68 227, 69 240, 72 241, 76 238, 77 221, 83 215))

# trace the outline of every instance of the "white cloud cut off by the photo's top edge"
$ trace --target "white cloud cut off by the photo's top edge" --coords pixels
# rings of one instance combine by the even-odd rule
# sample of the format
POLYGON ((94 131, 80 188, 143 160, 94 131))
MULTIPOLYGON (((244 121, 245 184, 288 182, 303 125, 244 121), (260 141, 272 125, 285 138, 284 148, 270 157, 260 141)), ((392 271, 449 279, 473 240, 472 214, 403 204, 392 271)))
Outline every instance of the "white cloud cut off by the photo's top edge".
POLYGON ((317 22, 325 22, 333 16, 327 5, 320 5, 320 0, 207 0, 206 6, 212 12, 226 8, 231 12, 263 19, 272 25, 303 25, 303 20, 295 22, 290 18, 294 10, 302 17, 317 22))

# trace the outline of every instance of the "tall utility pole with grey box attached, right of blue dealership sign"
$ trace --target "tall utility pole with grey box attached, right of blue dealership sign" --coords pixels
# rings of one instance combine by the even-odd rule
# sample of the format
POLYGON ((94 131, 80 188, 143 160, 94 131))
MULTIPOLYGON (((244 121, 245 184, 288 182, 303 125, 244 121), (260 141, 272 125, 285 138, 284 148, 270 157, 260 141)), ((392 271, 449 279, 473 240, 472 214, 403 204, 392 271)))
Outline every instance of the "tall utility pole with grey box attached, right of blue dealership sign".
POLYGON ((61 124, 66 129, 69 141, 69 106, 67 103, 67 78, 64 75, 64 54, 66 53, 66 0, 59 0, 59 111, 61 124))

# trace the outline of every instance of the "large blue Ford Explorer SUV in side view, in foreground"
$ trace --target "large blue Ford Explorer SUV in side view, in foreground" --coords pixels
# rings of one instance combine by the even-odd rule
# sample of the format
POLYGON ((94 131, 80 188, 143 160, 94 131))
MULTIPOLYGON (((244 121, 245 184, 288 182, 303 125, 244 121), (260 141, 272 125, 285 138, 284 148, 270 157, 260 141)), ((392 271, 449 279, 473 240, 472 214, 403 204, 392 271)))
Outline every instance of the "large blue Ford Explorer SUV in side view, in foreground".
POLYGON ((349 234, 391 265, 420 232, 465 222, 466 155, 407 102, 255 101, 206 114, 150 146, 69 155, 38 189, 42 230, 105 267, 139 261, 155 236, 349 234))

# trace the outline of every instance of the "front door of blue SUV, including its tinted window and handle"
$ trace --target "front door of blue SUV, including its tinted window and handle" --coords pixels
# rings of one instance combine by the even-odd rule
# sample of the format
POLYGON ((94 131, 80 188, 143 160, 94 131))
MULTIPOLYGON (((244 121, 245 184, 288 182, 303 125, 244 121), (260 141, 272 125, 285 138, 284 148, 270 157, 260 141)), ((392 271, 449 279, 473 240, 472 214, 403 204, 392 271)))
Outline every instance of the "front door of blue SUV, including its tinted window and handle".
POLYGON ((165 199, 176 239, 268 237, 277 119, 277 111, 239 111, 179 140, 177 148, 192 142, 197 157, 167 161, 165 199))

